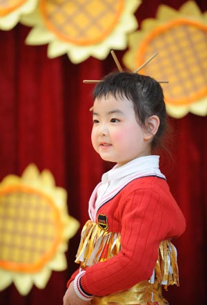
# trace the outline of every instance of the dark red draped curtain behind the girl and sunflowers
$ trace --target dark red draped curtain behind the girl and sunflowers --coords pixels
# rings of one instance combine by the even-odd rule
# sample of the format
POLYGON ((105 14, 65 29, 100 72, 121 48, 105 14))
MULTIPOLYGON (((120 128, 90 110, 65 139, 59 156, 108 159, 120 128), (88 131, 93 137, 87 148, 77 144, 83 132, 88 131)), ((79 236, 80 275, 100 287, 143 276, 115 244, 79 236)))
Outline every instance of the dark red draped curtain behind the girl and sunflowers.
MULTIPOLYGON (((185 1, 171 2, 144 0, 136 12, 139 25, 155 17, 159 4, 179 9, 185 1)), ((196 2, 202 12, 207 10, 206 0, 196 2)), ((90 144, 88 109, 93 86, 82 80, 100 79, 115 63, 110 56, 104 61, 91 57, 78 65, 66 55, 48 59, 47 46, 26 46, 29 30, 19 24, 0 32, 0 179, 11 173, 21 175, 32 162, 39 170, 48 168, 57 186, 68 192, 70 215, 83 225, 88 219, 90 193, 109 165, 90 144)), ((116 52, 120 61, 123 54, 116 52)), ((207 304, 206 123, 206 117, 192 114, 170 118, 172 159, 163 157, 161 166, 187 221, 186 233, 175 241, 181 286, 169 288, 166 298, 170 304, 207 304)), ((0 304, 62 304, 67 279, 76 268, 73 260, 78 243, 79 234, 70 240, 68 270, 52 272, 45 289, 34 286, 22 297, 11 285, 0 293, 0 304)))

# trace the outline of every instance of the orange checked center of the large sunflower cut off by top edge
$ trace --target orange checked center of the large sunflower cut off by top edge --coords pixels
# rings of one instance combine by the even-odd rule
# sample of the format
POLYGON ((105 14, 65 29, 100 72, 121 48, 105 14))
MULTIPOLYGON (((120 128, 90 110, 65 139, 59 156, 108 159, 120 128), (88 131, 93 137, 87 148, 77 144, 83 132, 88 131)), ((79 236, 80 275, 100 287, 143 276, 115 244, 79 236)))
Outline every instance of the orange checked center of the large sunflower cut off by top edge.
POLYGON ((123 10, 124 0, 41 0, 49 30, 77 45, 103 40, 114 30, 123 10))

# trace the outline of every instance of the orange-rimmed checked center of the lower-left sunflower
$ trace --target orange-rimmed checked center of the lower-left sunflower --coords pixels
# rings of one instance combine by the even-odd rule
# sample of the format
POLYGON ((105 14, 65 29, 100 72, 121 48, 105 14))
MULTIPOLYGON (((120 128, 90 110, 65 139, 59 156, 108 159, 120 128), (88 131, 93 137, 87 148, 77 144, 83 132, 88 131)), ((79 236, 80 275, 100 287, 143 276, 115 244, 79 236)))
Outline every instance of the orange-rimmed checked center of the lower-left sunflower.
POLYGON ((25 186, 0 193, 0 267, 37 271, 57 249, 59 214, 50 198, 25 186))

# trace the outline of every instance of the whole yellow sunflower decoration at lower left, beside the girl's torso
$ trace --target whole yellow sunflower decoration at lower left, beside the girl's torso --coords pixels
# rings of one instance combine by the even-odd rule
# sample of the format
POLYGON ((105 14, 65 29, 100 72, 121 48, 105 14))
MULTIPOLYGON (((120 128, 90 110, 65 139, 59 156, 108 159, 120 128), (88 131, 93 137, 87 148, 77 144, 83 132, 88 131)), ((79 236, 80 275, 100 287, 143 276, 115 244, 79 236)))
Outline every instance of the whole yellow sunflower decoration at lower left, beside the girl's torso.
POLYGON ((67 267, 64 252, 79 223, 66 207, 66 190, 48 170, 31 164, 22 177, 0 184, 0 291, 12 282, 21 295, 44 288, 52 270, 67 267))

